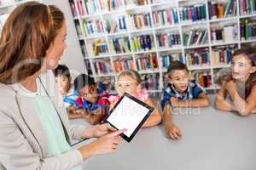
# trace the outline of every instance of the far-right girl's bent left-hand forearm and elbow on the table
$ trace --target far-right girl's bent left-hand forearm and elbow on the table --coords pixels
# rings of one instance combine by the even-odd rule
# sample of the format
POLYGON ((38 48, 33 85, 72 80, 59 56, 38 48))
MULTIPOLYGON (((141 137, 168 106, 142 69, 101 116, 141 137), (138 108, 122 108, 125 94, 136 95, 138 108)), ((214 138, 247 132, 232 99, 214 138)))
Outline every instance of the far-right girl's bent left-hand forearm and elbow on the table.
POLYGON ((235 111, 234 105, 231 105, 230 102, 225 100, 226 84, 226 81, 222 83, 221 88, 219 89, 218 94, 215 98, 214 107, 215 109, 221 111, 235 111))

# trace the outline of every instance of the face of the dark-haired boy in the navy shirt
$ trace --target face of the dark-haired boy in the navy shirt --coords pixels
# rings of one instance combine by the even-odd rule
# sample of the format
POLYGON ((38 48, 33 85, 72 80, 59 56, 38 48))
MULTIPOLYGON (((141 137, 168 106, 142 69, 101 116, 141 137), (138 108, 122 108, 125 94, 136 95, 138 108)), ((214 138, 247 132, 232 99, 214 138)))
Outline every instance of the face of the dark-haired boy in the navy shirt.
POLYGON ((176 88, 177 92, 183 93, 185 90, 187 90, 189 85, 188 71, 172 71, 172 73, 169 75, 169 78, 170 82, 173 84, 174 88, 176 88))

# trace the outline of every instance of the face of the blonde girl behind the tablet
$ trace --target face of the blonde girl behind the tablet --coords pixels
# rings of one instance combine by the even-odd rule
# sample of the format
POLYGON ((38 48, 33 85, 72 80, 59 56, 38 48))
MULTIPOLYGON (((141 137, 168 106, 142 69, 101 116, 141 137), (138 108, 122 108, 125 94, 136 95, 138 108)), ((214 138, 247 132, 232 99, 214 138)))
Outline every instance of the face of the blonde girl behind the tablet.
POLYGON ((136 95, 137 88, 137 82, 132 77, 126 75, 119 77, 119 81, 116 83, 116 90, 118 91, 119 95, 123 95, 125 93, 136 95))

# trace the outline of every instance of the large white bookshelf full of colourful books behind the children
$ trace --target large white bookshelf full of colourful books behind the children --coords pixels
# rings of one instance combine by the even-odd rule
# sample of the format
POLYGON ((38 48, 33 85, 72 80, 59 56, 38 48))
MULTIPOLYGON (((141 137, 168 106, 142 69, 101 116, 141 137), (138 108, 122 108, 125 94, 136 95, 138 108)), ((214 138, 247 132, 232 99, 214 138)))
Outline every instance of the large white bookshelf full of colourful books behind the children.
POLYGON ((69 3, 84 63, 96 81, 114 81, 119 71, 133 68, 151 92, 160 92, 170 61, 180 60, 201 86, 218 89, 234 50, 256 44, 254 0, 69 3))

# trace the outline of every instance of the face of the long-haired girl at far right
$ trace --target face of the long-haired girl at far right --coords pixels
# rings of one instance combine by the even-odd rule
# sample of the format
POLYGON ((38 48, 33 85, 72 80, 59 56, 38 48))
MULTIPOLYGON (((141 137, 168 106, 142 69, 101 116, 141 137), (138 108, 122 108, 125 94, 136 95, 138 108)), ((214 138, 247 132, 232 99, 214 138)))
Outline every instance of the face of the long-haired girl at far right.
POLYGON ((246 55, 236 55, 231 60, 232 77, 236 80, 247 80, 247 78, 255 71, 251 60, 246 55))

